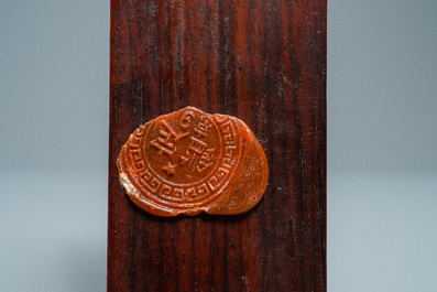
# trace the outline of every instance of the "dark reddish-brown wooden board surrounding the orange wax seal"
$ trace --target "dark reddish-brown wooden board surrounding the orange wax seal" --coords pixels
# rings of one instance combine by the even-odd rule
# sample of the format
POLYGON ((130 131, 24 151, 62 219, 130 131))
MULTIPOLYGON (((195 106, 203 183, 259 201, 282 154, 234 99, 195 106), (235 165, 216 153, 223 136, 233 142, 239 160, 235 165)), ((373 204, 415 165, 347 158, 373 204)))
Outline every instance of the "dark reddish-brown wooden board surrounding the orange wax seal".
POLYGON ((108 291, 326 291, 326 4, 112 1, 108 291), (261 142, 250 212, 157 217, 121 187, 130 133, 186 106, 261 142))

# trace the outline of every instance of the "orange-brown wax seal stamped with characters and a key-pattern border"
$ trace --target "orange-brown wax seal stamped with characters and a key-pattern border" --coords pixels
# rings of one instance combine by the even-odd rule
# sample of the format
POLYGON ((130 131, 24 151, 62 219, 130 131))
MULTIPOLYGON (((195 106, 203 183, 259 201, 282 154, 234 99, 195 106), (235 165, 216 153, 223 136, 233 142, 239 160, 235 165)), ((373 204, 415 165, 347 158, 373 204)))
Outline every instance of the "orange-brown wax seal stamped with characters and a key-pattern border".
POLYGON ((264 151, 243 121, 194 107, 140 126, 117 166, 132 202, 157 216, 244 213, 269 179, 264 151))

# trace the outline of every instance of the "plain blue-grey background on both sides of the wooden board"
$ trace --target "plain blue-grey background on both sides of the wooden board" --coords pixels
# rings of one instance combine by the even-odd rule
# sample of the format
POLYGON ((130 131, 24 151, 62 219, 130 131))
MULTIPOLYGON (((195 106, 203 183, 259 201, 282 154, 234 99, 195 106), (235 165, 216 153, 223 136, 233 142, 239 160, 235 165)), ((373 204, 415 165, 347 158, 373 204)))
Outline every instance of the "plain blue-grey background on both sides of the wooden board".
MULTIPOLYGON (((105 291, 109 1, 0 3, 0 291, 105 291)), ((437 2, 329 0, 328 291, 435 291, 437 2)))

